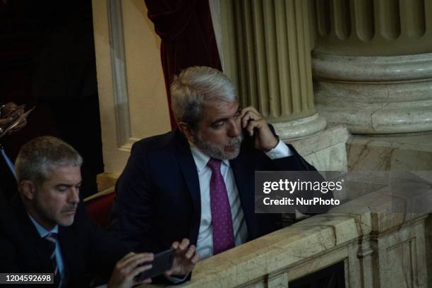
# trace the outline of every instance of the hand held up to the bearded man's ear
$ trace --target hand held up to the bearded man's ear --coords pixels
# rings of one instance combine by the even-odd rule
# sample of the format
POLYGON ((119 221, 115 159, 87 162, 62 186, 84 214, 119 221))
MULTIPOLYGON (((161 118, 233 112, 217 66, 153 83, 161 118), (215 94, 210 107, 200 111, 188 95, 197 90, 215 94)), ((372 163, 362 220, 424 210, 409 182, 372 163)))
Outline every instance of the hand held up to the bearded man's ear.
POLYGON ((253 107, 241 110, 241 128, 246 129, 250 136, 255 136, 255 148, 268 152, 276 147, 279 141, 268 127, 267 121, 253 107))

